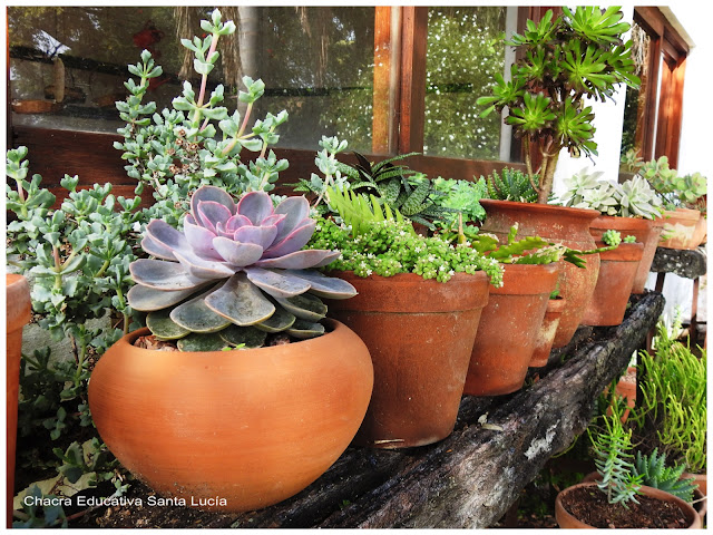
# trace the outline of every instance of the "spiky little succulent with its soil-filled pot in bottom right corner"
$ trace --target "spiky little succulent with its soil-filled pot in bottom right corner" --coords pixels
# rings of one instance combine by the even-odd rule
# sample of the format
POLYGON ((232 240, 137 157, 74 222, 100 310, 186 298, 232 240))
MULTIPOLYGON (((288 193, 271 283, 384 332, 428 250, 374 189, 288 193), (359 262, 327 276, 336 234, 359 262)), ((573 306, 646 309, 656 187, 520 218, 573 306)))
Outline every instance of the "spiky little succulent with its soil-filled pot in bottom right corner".
POLYGON ((631 453, 632 430, 625 430, 621 407, 587 430, 595 453, 597 479, 561 490, 555 500, 555 517, 561 528, 702 527, 695 509, 684 499, 642 485, 631 453))

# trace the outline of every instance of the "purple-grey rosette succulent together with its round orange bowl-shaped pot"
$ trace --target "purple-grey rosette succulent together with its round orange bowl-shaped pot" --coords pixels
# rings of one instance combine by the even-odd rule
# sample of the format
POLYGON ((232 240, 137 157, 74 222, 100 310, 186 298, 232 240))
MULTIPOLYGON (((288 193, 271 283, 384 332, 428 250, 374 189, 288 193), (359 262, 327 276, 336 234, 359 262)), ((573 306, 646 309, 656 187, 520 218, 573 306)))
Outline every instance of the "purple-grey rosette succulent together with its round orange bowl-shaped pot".
POLYGON ((191 206, 183 232, 147 225, 141 246, 155 259, 130 264, 127 299, 147 312, 148 330, 101 357, 89 406, 109 449, 158 493, 205 508, 264 507, 324 473, 364 416, 369 352, 344 325, 320 323, 320 296, 355 292, 309 270, 339 252, 301 251, 315 228, 304 197, 273 207, 250 192, 235 204, 203 186, 191 206), (137 348, 149 330, 180 353, 137 348), (303 341, 261 348, 266 333, 303 341))

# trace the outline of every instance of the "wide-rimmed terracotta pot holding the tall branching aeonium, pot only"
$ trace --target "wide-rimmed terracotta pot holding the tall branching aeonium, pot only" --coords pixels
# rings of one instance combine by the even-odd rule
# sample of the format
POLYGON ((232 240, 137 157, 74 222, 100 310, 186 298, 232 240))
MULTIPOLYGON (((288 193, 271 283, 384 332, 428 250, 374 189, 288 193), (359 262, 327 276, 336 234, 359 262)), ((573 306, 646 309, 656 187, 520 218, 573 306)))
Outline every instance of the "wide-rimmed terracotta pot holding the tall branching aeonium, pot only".
MULTIPOLYGON (((582 251, 595 249, 589 224, 599 215, 596 210, 492 200, 481 200, 480 204, 487 213, 484 232, 505 239, 517 222, 520 236, 540 236, 582 251)), ((592 254, 585 260, 586 268, 565 263, 559 273, 559 294, 565 298, 566 304, 553 342, 554 348, 567 346, 572 340, 594 293, 599 274, 599 255, 592 254)))

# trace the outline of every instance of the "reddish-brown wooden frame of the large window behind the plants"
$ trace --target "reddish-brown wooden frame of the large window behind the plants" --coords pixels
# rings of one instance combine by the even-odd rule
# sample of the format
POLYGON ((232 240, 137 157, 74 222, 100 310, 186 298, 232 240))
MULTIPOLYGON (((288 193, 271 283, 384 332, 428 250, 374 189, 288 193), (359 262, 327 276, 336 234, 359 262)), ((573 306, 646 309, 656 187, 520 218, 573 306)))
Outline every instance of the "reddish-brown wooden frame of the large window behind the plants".
MULTIPOLYGON (((368 155, 374 160, 423 150, 428 9, 374 8, 373 154, 368 155)), ((519 25, 524 27, 526 19, 539 19, 547 9, 560 11, 560 8, 547 7, 519 8, 519 25)), ((10 125, 9 130, 9 146, 28 146, 31 172, 42 174, 50 186, 58 186, 67 173, 79 175, 82 185, 110 182, 117 194, 131 194, 136 182, 126 175, 119 152, 113 147, 115 140, 121 139, 118 135, 17 125, 10 125)), ((275 149, 275 154, 290 160, 281 182, 292 183, 316 172, 315 150, 282 148, 275 149)), ((514 144, 511 154, 520 154, 518 144, 514 144)), ((406 163, 431 177, 442 175, 458 179, 473 179, 506 166, 524 169, 520 163, 422 154, 406 163)), ((57 191, 59 193, 59 187, 57 191)))

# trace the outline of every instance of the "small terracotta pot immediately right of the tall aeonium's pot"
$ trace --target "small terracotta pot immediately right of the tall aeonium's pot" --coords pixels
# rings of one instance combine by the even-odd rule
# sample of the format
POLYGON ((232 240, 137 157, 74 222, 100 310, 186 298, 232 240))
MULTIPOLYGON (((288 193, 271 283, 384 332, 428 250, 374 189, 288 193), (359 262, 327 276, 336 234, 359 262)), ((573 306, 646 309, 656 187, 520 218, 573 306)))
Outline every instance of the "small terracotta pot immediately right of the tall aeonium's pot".
MULTIPOLYGON (((605 246, 604 242, 597 246, 605 246)), ((643 243, 621 243, 599 253, 602 265, 594 295, 582 318, 585 325, 618 325, 626 313, 636 270, 644 254, 643 243)))

